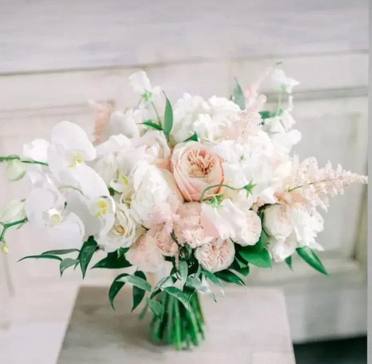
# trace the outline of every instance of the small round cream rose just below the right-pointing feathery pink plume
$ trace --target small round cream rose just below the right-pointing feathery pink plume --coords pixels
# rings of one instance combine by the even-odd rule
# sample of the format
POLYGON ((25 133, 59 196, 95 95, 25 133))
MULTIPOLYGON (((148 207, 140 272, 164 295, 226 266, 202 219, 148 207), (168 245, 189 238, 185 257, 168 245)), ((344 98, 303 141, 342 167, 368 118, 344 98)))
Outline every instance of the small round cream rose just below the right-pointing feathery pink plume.
POLYGON ((263 211, 263 228, 277 239, 288 237, 293 231, 291 216, 287 207, 282 205, 268 206, 263 211))

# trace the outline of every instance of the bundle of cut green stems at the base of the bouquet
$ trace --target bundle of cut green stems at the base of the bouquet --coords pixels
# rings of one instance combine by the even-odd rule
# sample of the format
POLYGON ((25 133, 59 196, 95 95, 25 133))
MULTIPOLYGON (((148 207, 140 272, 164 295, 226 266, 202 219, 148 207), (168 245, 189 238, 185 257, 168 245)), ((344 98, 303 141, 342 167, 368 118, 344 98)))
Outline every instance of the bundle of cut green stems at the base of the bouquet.
POLYGON ((149 332, 155 342, 174 345, 177 350, 198 347, 204 340, 204 317, 199 293, 194 292, 190 298, 190 309, 175 297, 163 291, 158 295, 164 307, 161 317, 153 316, 149 332))

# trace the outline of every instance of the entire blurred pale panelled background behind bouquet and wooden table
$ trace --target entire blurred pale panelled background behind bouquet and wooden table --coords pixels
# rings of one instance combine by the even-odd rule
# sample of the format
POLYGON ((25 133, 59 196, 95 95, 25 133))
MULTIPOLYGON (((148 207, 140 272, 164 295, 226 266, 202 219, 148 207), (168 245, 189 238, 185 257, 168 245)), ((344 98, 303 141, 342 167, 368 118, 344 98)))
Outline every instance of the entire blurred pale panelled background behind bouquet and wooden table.
MULTIPOLYGON (((295 151, 366 174, 367 0, 0 0, 0 155, 48 138, 61 120, 93 131, 87 101, 133 106, 127 79, 140 69, 175 101, 184 92, 229 97, 234 77, 244 88, 278 61, 300 81, 293 114, 303 140, 295 151)), ((0 206, 29 187, 6 183, 3 173, 0 183, 0 206)), ((252 270, 247 285, 284 290, 298 364, 333 363, 327 348, 339 355, 334 363, 366 363, 366 189, 353 186, 324 217, 320 256, 329 277, 294 260, 293 272, 284 264, 252 270), (325 346, 341 338, 352 339, 325 346)), ((29 226, 7 237, 0 362, 11 349, 6 364, 52 364, 80 272, 60 278, 53 261, 17 264, 48 250, 48 241, 29 226)), ((108 285, 117 274, 91 271, 84 284, 108 285)))

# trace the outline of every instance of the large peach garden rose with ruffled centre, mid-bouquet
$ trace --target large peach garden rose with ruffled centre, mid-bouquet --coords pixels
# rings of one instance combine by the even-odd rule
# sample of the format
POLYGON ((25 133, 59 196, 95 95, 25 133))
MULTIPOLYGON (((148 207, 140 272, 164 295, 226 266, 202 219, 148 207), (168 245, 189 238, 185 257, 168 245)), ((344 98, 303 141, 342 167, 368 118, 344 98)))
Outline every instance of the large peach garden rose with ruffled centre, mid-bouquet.
MULTIPOLYGON (((221 161, 220 157, 199 142, 176 145, 172 155, 172 171, 185 201, 199 201, 205 188, 223 182, 221 161)), ((204 197, 211 197, 219 190, 220 187, 210 189, 204 197)))

